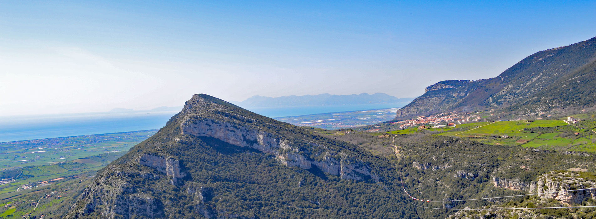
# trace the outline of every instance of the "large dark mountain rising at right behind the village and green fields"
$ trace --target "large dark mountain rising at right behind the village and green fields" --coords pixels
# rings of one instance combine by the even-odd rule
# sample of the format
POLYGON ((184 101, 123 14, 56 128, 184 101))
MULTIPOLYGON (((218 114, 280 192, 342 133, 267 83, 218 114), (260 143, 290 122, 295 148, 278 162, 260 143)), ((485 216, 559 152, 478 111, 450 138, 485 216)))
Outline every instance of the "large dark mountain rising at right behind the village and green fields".
POLYGON ((395 120, 493 108, 522 114, 596 103, 596 37, 536 52, 497 77, 446 80, 397 111, 395 120))

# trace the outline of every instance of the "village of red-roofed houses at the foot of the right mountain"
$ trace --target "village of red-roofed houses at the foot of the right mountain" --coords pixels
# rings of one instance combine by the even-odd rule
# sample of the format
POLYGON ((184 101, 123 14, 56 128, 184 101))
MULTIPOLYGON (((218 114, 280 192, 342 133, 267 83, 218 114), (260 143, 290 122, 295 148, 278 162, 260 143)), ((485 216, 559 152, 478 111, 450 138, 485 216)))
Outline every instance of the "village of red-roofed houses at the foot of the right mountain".
MULTIPOLYGON (((480 121, 480 120, 482 120, 482 119, 480 118, 479 115, 460 115, 460 114, 458 114, 457 111, 453 111, 453 112, 444 112, 444 113, 436 114, 436 115, 429 115, 428 117, 419 116, 418 118, 413 118, 411 120, 397 121, 397 122, 391 123, 391 124, 395 124, 395 125, 399 124, 400 129, 408 129, 410 127, 416 127, 416 126, 420 126, 423 124, 424 125, 426 125, 426 124, 437 125, 434 127, 445 127, 444 125, 440 125, 443 123, 446 123, 447 126, 455 127, 456 124, 462 124, 467 121, 480 121)), ((420 126, 420 127, 422 127, 422 126, 420 126)), ((424 126, 423 129, 424 128, 426 128, 426 126, 424 126)))

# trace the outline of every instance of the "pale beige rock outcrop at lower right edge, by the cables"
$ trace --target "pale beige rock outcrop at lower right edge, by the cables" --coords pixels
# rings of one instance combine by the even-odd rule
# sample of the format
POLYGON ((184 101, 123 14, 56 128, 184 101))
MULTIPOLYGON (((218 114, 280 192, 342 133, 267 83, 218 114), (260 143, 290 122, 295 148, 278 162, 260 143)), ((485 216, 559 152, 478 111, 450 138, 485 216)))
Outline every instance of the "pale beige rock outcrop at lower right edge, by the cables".
POLYGON ((530 191, 540 194, 541 198, 551 198, 564 204, 581 204, 587 199, 596 198, 596 189, 561 192, 566 190, 585 189, 596 187, 596 182, 579 177, 577 173, 542 174, 536 186, 530 191))

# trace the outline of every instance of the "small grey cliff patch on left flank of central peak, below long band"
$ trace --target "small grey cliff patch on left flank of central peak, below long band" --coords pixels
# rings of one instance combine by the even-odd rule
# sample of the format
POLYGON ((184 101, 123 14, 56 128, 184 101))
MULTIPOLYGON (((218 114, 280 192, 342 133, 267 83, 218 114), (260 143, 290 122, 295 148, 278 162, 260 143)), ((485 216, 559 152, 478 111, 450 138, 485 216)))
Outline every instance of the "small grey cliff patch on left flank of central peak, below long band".
POLYGON ((136 159, 136 162, 153 167, 167 176, 172 177, 172 184, 176 184, 179 178, 184 177, 184 173, 180 173, 180 161, 176 159, 143 154, 136 159))

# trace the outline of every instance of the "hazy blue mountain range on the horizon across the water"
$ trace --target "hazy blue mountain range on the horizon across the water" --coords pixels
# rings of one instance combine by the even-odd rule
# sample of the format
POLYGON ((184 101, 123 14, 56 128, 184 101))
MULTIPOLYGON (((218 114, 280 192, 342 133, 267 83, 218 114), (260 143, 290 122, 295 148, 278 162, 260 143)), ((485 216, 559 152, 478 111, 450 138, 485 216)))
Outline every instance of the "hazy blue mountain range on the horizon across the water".
POLYGON ((319 95, 280 96, 271 98, 267 96, 252 96, 245 101, 231 101, 240 107, 305 107, 326 105, 359 105, 359 104, 406 104, 414 98, 396 98, 386 93, 361 93, 359 95, 319 95))

